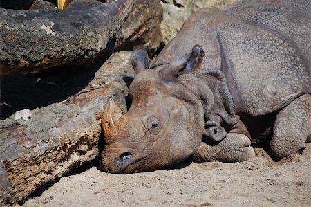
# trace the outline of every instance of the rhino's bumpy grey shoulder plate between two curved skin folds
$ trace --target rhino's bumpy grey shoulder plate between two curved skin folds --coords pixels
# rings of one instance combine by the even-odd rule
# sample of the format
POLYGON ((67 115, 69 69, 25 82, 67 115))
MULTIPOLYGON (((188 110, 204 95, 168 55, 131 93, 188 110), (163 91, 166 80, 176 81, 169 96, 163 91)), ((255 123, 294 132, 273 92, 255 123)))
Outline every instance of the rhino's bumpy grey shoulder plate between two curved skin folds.
POLYGON ((239 111, 269 114, 311 93, 310 64, 296 44, 269 28, 228 21, 218 34, 222 70, 239 111), (224 66, 225 65, 225 66, 224 66), (232 84, 232 82, 234 84, 232 84))

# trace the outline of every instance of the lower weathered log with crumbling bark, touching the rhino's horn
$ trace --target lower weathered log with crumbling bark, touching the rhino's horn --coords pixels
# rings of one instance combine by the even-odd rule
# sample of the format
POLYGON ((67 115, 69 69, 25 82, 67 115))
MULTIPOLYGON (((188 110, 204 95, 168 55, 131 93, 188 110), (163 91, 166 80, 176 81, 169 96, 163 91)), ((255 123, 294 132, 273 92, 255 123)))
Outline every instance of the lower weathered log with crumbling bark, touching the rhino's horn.
POLYGON ((32 110, 28 120, 0 121, 0 206, 25 199, 46 183, 98 156, 104 103, 126 111, 124 76, 133 76, 130 52, 113 54, 75 96, 32 110))

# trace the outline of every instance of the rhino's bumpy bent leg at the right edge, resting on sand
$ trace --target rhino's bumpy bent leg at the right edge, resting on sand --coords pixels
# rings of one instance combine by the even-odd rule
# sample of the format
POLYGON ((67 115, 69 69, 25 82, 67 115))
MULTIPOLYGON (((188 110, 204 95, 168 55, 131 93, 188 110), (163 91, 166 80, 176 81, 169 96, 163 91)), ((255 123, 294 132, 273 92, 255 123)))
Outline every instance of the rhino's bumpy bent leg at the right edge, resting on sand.
POLYGON ((272 154, 282 159, 305 149, 311 138, 311 95, 296 98, 276 116, 273 137, 270 142, 272 154))

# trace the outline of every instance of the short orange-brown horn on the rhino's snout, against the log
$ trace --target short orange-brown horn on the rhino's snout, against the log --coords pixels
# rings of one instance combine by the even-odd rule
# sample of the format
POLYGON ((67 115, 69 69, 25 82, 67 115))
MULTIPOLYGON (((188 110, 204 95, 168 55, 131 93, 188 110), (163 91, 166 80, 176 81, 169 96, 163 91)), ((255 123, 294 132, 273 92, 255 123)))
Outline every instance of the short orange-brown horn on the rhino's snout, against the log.
POLYGON ((104 105, 104 113, 102 115, 102 127, 105 137, 111 137, 116 129, 120 126, 122 111, 113 99, 110 99, 104 105))

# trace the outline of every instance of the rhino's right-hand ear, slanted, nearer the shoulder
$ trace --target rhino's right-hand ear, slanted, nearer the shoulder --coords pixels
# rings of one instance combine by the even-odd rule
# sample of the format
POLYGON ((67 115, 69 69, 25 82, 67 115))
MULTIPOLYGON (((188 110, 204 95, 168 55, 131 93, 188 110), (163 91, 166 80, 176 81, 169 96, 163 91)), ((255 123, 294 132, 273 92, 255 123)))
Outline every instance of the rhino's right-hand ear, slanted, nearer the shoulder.
POLYGON ((204 51, 201 46, 196 44, 189 53, 182 55, 162 69, 160 74, 164 79, 173 79, 178 74, 193 71, 202 56, 204 56, 204 51))

